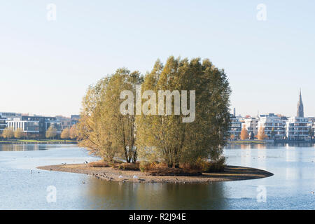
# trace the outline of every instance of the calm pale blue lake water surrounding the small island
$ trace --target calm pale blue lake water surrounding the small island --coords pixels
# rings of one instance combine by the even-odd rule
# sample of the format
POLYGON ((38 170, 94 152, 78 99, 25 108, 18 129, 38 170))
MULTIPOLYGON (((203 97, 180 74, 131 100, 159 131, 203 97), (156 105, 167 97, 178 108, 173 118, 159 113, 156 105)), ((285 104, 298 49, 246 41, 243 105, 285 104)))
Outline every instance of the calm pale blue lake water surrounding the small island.
POLYGON ((315 209, 314 145, 244 144, 228 146, 224 153, 229 165, 265 169, 274 176, 202 184, 106 182, 36 169, 97 160, 83 148, 0 145, 0 209, 315 209), (57 189, 55 203, 46 200, 48 186, 57 189), (256 198, 261 189, 265 202, 256 198))

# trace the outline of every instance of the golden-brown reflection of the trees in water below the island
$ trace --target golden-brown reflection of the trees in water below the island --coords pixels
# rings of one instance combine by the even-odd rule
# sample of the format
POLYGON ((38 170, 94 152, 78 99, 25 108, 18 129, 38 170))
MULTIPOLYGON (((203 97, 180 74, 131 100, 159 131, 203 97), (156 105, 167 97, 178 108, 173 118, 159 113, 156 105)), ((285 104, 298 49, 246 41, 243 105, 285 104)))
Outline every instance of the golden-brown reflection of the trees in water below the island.
POLYGON ((120 183, 90 179, 90 209, 225 209, 224 183, 120 183))

